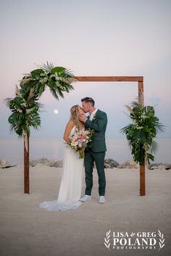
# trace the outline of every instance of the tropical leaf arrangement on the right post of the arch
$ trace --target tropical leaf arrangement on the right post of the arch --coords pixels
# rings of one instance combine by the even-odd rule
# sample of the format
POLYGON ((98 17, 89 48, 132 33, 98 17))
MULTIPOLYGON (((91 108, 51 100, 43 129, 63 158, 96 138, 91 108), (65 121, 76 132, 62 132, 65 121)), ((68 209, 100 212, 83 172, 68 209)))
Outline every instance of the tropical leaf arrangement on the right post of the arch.
POLYGON ((154 161, 154 154, 158 149, 154 138, 157 133, 164 131, 164 125, 159 123, 159 118, 155 116, 154 107, 144 106, 142 101, 133 101, 130 106, 126 105, 126 107, 133 123, 120 131, 126 134, 133 160, 140 165, 149 164, 150 160, 154 161))

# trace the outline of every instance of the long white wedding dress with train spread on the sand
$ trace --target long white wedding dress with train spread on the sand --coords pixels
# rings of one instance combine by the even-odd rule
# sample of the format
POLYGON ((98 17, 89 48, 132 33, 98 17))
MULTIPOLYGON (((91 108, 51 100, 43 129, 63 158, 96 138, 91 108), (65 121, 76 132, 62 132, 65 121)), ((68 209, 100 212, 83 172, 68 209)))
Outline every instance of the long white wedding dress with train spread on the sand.
MULTIPOLYGON (((71 138, 75 126, 70 131, 71 138)), ((48 211, 71 210, 80 207, 81 189, 83 178, 83 159, 78 153, 66 147, 64 152, 63 176, 60 183, 58 199, 42 202, 39 207, 48 211)))

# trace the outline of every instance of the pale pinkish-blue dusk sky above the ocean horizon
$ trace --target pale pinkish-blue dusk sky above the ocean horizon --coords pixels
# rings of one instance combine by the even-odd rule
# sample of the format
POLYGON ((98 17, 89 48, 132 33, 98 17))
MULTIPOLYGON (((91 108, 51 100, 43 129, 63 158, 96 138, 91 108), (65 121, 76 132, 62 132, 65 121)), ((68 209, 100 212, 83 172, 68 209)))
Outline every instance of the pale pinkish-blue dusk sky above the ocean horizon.
MULTIPOLYGON (((46 61, 75 76, 143 76, 145 104, 165 125, 158 137, 171 137, 170 25, 170 0, 0 0, 0 138, 17 138, 4 99, 14 97, 23 74, 46 61)), ((77 82, 74 88, 59 101, 46 89, 33 138, 61 138, 70 107, 85 96, 107 112, 107 137, 123 136, 120 129, 130 123, 125 104, 138 96, 138 83, 77 82)))

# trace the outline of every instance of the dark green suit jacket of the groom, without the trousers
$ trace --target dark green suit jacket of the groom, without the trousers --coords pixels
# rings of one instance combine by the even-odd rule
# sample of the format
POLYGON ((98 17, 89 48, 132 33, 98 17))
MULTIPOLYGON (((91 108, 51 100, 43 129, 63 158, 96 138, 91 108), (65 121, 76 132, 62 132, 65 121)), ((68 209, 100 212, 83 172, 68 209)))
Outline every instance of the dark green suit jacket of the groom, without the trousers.
POLYGON ((107 151, 105 142, 105 132, 107 128, 107 114, 101 110, 97 110, 93 120, 87 119, 85 122, 86 127, 93 128, 95 131, 92 139, 91 150, 93 152, 107 151))

